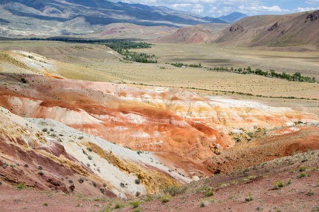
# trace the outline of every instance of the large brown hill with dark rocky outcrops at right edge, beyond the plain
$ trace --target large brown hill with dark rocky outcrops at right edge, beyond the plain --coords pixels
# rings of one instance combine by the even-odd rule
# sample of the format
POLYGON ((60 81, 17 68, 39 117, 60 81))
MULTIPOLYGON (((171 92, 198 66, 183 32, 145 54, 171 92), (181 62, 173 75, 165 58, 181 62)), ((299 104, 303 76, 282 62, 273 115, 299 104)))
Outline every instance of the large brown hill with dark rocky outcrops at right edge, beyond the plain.
POLYGON ((244 46, 319 47, 319 11, 244 18, 207 43, 244 46))

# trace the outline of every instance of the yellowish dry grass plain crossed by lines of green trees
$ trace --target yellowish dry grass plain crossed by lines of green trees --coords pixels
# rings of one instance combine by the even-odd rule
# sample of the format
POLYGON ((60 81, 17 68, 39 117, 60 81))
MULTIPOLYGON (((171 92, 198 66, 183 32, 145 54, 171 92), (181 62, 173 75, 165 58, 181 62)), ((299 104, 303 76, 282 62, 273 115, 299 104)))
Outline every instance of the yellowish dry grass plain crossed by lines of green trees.
MULTIPOLYGON (((232 98, 252 99, 273 106, 293 107, 303 112, 319 115, 318 100, 256 97, 296 97, 319 99, 318 83, 289 82, 257 75, 212 72, 199 68, 176 68, 165 63, 201 63, 205 67, 227 66, 274 69, 295 73, 319 80, 319 53, 284 52, 246 47, 218 47, 212 45, 155 44, 139 52, 154 53, 158 64, 127 63, 109 49, 100 45, 47 41, 0 42, 0 50, 34 52, 63 62, 65 71, 59 74, 67 78, 92 81, 125 82, 144 85, 188 89, 203 95, 224 95, 232 98), (74 66, 76 65, 76 66, 74 66), (69 67, 68 67, 69 66, 69 67), (78 70, 76 70, 78 67, 78 70), (71 71, 70 71, 71 70, 71 71), (205 90, 203 90, 205 89, 205 90), (225 92, 250 93, 254 96, 225 92)), ((135 50, 137 51, 137 50, 135 50)), ((1 66, 0 71, 6 72, 1 66)), ((12 70, 11 70, 12 71, 12 70)))

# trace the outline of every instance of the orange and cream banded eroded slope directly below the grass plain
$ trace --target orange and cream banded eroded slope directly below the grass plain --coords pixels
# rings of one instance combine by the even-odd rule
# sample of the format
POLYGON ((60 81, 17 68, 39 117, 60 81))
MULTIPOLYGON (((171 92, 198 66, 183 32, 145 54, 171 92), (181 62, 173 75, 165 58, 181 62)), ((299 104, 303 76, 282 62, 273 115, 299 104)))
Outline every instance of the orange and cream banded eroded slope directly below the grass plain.
MULTIPOLYGON (((51 118, 131 149, 169 152, 200 162, 250 140, 260 129, 317 124, 310 114, 256 102, 201 97, 186 90, 152 91, 124 84, 0 75, 0 106, 51 118), (21 78, 27 83, 22 83, 21 78)), ((176 160, 176 159, 172 159, 176 160)))

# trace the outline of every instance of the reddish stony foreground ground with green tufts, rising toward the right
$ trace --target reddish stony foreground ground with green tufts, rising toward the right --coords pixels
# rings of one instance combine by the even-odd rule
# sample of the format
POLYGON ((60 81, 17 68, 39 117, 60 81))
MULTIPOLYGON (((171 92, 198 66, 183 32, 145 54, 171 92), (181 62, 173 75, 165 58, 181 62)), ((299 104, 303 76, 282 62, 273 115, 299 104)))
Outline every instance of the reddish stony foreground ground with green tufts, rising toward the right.
POLYGON ((314 150, 215 175, 167 190, 167 202, 163 195, 123 201, 2 185, 0 211, 318 211, 318 159, 314 150))

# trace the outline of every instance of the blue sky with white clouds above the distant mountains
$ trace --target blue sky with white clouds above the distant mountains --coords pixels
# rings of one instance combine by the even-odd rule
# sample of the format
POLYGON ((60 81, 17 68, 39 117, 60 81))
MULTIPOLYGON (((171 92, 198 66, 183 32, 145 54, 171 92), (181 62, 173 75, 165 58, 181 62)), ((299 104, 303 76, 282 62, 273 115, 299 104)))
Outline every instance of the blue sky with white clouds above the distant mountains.
POLYGON ((122 0, 122 2, 165 6, 212 17, 219 17, 232 12, 241 12, 246 15, 267 15, 319 9, 319 0, 122 0))

